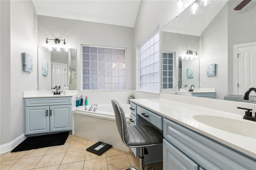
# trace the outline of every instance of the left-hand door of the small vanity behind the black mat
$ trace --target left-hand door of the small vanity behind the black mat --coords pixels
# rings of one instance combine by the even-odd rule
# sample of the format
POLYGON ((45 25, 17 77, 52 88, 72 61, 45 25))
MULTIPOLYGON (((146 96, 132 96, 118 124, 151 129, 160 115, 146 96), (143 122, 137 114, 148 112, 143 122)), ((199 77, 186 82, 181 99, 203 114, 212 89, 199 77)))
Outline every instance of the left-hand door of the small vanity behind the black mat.
POLYGON ((50 132, 49 106, 25 107, 25 134, 50 132))

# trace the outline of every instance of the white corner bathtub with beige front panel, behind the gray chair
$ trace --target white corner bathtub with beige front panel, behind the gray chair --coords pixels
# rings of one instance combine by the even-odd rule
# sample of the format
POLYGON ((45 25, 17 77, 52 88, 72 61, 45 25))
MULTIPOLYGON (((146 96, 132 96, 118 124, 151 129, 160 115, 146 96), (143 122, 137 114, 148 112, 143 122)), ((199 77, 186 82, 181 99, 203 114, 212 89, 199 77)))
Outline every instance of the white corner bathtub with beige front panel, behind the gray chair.
MULTIPOLYGON (((123 104, 122 107, 126 123, 130 125, 130 105, 123 104)), ((106 142, 115 148, 130 151, 120 138, 112 105, 98 105, 96 108, 96 112, 84 111, 83 106, 76 108, 74 111, 74 133, 83 138, 106 142)))

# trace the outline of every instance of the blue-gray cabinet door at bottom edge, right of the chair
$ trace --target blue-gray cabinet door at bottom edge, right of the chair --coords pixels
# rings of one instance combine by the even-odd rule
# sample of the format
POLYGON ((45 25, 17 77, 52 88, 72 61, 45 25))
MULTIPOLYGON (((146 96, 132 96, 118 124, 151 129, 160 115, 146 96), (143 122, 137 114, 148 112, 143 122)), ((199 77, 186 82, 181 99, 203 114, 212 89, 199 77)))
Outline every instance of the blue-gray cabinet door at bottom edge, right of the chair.
POLYGON ((198 170, 199 166, 168 141, 163 140, 164 170, 198 170))

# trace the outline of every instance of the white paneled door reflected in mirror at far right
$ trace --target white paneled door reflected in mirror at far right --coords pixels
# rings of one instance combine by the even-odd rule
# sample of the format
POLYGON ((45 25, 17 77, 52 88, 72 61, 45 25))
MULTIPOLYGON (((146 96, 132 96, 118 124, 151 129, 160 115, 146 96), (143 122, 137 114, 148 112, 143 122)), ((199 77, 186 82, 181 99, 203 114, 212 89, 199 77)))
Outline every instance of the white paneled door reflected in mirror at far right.
POLYGON ((238 47, 238 95, 256 87, 256 45, 238 47))

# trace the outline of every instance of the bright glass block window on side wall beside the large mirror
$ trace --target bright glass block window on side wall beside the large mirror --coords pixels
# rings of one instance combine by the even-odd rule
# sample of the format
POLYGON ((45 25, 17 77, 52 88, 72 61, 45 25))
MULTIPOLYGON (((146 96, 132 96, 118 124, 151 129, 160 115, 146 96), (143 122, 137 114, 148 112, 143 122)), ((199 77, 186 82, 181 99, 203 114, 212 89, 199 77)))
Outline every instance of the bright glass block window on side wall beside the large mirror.
POLYGON ((159 92, 159 32, 140 46, 140 90, 159 92))

